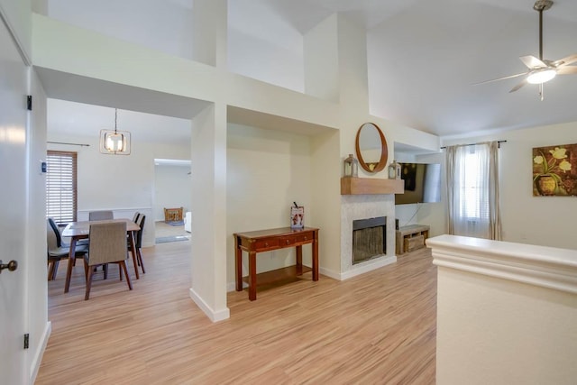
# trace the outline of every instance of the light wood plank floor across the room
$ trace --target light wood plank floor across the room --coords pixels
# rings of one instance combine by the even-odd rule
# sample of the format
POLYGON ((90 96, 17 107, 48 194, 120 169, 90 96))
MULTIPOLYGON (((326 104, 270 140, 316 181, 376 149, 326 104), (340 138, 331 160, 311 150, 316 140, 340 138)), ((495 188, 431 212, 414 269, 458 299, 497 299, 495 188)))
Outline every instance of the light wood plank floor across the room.
MULTIPOLYGON (((143 250, 134 289, 80 263, 49 282, 52 334, 37 384, 434 384, 436 268, 428 250, 350 280, 321 276, 248 300, 213 324, 188 297, 189 243, 143 250)), ((132 269, 130 263, 129 270, 132 269)))

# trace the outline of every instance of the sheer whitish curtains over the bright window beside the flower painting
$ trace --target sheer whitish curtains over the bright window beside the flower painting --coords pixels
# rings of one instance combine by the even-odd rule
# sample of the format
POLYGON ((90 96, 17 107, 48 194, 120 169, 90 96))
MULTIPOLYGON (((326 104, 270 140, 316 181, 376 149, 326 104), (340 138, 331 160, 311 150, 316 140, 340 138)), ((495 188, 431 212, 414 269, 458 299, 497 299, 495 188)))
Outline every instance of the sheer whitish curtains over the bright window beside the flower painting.
POLYGON ((499 143, 446 148, 447 232, 501 239, 499 143))

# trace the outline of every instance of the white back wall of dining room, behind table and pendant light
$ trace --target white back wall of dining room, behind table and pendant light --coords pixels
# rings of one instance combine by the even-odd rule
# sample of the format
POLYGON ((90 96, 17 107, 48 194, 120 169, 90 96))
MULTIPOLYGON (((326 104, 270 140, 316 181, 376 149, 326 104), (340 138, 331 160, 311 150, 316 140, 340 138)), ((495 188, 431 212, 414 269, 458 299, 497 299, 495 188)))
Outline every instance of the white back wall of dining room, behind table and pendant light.
POLYGON ((86 219, 87 212, 92 210, 114 210, 117 216, 127 218, 132 218, 134 211, 140 211, 147 216, 142 245, 151 246, 154 244, 154 221, 151 220, 154 217, 154 159, 189 160, 189 144, 138 142, 138 135, 133 133, 130 155, 108 155, 98 151, 97 135, 60 137, 50 133, 48 127, 51 142, 89 144, 89 147, 48 145, 48 150, 78 152, 78 219, 86 219))

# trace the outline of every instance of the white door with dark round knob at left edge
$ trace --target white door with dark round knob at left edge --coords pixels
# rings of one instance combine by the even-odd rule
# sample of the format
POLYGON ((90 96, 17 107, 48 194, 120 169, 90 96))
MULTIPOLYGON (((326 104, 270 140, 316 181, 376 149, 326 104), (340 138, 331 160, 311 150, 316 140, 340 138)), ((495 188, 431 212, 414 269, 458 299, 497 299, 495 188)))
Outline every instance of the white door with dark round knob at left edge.
MULTIPOLYGON (((0 19, 2 20, 2 19, 0 19)), ((23 336, 27 201, 27 68, 0 21, 0 260, 18 268, 0 272, 0 382, 24 384, 23 336)))

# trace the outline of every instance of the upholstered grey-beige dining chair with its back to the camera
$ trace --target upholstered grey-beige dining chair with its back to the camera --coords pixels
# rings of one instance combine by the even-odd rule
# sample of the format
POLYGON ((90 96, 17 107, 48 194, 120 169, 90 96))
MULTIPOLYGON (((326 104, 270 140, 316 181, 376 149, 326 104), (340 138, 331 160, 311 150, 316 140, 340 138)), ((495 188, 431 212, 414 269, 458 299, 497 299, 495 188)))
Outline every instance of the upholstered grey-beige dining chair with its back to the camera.
POLYGON ((84 256, 84 270, 87 276, 87 291, 84 299, 90 298, 90 288, 94 275, 92 268, 109 263, 118 264, 120 280, 123 280, 124 270, 128 289, 132 290, 133 284, 130 281, 125 262, 128 256, 126 252, 126 222, 90 225, 88 239, 90 240, 88 253, 84 256))

